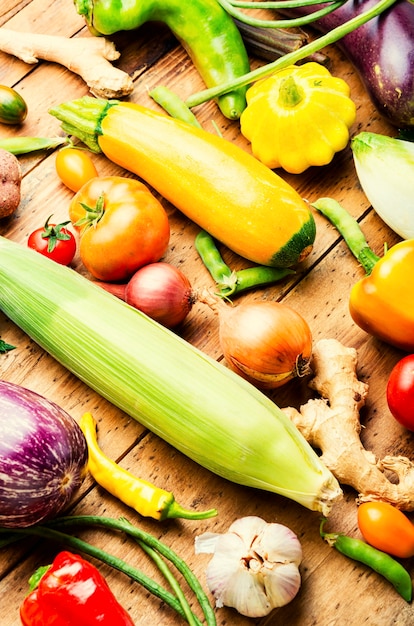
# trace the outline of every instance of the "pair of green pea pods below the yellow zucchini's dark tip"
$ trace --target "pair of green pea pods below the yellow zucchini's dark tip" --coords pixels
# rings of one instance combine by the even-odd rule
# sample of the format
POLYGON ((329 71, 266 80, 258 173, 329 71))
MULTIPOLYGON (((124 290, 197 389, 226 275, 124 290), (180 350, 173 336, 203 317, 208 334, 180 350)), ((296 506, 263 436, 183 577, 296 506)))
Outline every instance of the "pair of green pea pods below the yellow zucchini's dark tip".
POLYGON ((195 247, 219 288, 217 295, 222 298, 229 298, 248 289, 272 285, 285 276, 295 273, 289 268, 268 267, 267 265, 232 271, 223 261, 213 237, 205 230, 198 233, 195 247))

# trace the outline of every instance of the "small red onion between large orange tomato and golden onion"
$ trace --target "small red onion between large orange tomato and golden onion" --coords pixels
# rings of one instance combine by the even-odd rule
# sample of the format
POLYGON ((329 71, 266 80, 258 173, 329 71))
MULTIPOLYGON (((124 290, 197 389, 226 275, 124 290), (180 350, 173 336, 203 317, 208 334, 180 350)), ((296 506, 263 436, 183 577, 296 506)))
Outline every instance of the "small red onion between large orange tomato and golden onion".
POLYGON ((167 328, 184 321, 196 300, 185 274, 162 261, 141 267, 126 285, 98 284, 167 328))

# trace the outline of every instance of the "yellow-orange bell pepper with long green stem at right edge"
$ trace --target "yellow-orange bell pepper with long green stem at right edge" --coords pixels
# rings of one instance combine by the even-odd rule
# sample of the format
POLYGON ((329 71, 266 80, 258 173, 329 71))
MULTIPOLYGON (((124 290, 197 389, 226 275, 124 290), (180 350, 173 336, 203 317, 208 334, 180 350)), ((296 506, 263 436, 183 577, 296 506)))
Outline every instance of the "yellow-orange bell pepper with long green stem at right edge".
POLYGON ((369 248, 358 222, 332 198, 312 205, 339 230, 349 249, 361 263, 365 276, 353 285, 349 311, 365 332, 386 343, 414 351, 414 239, 397 243, 377 256, 369 248))

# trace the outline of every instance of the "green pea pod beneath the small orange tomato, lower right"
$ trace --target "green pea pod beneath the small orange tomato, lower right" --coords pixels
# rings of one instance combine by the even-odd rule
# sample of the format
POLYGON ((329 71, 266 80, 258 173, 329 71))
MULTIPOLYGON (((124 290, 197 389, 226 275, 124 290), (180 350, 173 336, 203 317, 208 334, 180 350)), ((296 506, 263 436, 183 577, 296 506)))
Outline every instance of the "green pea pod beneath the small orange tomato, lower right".
POLYGON ((401 563, 393 559, 389 554, 373 548, 360 539, 347 537, 340 533, 325 533, 323 531, 325 522, 325 519, 321 522, 320 534, 330 546, 336 548, 338 552, 350 559, 359 561, 359 563, 363 563, 373 569, 377 574, 388 580, 404 600, 411 602, 413 594, 411 576, 401 563))

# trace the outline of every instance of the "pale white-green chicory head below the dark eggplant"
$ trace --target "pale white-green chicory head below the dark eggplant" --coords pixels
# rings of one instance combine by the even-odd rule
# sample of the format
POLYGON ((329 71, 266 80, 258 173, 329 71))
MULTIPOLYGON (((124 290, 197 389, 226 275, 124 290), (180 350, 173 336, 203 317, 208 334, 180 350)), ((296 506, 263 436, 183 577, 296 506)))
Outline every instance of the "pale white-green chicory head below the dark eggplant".
POLYGON ((414 238, 414 143, 362 132, 351 147, 373 209, 400 237, 414 238))

